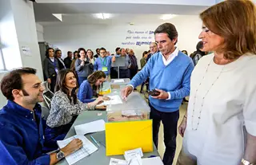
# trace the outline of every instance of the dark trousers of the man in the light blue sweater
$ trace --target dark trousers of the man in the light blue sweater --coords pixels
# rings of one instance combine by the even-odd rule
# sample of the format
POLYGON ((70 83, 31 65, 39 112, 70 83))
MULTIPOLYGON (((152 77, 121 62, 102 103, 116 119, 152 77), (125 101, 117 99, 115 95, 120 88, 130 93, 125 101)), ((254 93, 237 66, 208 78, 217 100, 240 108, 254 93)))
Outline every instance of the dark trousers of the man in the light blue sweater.
POLYGON ((162 162, 165 165, 171 165, 173 163, 176 150, 176 136, 179 111, 160 112, 157 109, 155 109, 152 105, 150 105, 150 110, 150 119, 153 120, 154 145, 158 147, 158 132, 160 127, 160 121, 162 121, 164 143, 166 145, 166 151, 163 156, 162 162))

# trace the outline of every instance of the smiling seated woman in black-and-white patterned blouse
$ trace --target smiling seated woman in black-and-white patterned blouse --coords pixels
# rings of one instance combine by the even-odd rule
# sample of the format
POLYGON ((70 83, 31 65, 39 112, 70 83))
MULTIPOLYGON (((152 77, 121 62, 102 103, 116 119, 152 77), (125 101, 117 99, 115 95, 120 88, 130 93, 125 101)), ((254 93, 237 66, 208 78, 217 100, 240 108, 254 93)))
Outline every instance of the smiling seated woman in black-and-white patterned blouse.
MULTIPOLYGON (((45 138, 46 146, 58 148, 56 141, 62 140, 79 113, 94 110, 102 100, 84 104, 77 98, 77 77, 73 70, 63 69, 58 73, 54 97, 51 101, 50 115, 47 118, 45 138)), ((106 107, 97 107, 106 109, 106 107)))

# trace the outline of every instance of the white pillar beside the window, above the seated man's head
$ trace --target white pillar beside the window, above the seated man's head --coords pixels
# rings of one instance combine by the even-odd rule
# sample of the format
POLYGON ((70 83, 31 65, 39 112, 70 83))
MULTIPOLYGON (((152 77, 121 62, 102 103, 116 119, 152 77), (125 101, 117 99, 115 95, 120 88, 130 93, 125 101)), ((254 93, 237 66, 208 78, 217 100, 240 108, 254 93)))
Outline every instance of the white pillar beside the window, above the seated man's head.
POLYGON ((22 66, 37 69, 38 77, 43 80, 33 2, 27 0, 11 0, 11 5, 14 13, 18 45, 22 57, 22 66), (22 52, 22 47, 26 47, 29 52, 22 52))

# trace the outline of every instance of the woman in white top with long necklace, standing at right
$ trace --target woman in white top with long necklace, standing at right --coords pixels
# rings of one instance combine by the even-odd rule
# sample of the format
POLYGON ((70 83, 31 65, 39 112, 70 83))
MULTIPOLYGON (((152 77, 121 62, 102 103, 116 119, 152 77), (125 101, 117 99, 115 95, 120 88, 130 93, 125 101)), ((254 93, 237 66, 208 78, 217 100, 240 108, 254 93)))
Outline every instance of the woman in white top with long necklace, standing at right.
POLYGON ((214 53, 192 73, 177 164, 256 164, 256 8, 224 1, 200 18, 203 51, 214 53))

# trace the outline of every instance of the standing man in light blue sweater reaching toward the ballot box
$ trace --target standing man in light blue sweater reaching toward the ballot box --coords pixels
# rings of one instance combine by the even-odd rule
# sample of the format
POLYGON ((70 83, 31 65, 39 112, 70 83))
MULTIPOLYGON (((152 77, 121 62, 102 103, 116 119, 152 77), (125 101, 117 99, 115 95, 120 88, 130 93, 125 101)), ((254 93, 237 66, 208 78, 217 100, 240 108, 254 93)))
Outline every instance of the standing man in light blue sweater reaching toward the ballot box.
POLYGON ((122 90, 122 96, 126 99, 133 88, 150 77, 150 90, 156 89, 160 92, 158 96, 150 96, 153 140, 155 146, 158 147, 158 131, 160 121, 162 121, 166 145, 162 161, 165 165, 170 165, 176 150, 179 107, 182 99, 190 94, 190 75, 194 64, 190 57, 175 47, 178 32, 174 25, 164 23, 158 26, 154 31, 154 37, 160 52, 150 57, 143 69, 122 90))

